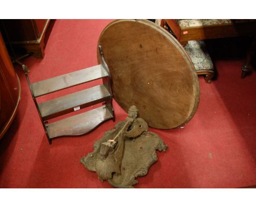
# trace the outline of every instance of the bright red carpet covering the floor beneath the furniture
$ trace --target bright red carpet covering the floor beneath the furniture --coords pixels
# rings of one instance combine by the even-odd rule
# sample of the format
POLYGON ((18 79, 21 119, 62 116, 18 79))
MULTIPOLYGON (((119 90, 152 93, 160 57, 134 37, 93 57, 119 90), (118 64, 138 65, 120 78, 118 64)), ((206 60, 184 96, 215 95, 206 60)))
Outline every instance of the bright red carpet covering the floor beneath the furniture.
MULTIPOLYGON (((30 57, 31 82, 97 64, 97 40, 110 20, 57 20, 45 58, 30 57)), ((218 59, 218 78, 211 84, 199 77, 201 97, 194 118, 184 129, 150 129, 168 145, 137 188, 232 188, 256 185, 256 74, 240 79, 241 60, 218 59)), ((0 141, 1 188, 109 188, 79 163, 96 139, 112 129, 112 120, 85 136, 62 137, 49 145, 25 76, 18 114, 0 141)), ((77 91, 96 85, 67 91, 77 91)), ((42 100, 49 99, 43 97, 42 100)), ((114 102, 116 120, 126 113, 114 102)))

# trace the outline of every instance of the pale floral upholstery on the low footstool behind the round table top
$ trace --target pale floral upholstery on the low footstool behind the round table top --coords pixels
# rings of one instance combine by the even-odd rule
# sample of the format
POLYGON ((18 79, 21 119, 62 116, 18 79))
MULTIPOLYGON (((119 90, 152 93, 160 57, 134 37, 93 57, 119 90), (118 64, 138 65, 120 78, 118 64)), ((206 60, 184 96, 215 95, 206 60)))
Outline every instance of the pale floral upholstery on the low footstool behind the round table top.
POLYGON ((213 63, 210 54, 206 51, 203 40, 190 40, 185 46, 196 70, 213 70, 213 63))

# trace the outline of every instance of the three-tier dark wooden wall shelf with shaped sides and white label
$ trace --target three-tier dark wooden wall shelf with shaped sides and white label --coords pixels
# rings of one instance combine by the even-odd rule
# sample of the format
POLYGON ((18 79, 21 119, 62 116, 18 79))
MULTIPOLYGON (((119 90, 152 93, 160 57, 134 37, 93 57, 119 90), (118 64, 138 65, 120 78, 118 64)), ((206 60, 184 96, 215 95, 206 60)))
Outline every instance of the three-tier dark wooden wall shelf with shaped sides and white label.
POLYGON ((27 71, 25 75, 28 85, 37 107, 40 120, 43 124, 45 134, 51 144, 51 139, 61 136, 78 136, 89 133, 102 122, 115 119, 112 105, 113 94, 110 85, 110 74, 104 60, 101 46, 98 46, 101 59, 100 64, 90 68, 71 72, 69 74, 45 79, 36 83, 30 83, 27 71), (37 97, 54 93, 62 89, 74 87, 75 85, 103 79, 102 85, 97 85, 82 91, 77 91, 56 99, 37 102, 37 97), (92 109, 84 113, 74 115, 48 124, 48 119, 58 117, 103 102, 104 106, 92 109))

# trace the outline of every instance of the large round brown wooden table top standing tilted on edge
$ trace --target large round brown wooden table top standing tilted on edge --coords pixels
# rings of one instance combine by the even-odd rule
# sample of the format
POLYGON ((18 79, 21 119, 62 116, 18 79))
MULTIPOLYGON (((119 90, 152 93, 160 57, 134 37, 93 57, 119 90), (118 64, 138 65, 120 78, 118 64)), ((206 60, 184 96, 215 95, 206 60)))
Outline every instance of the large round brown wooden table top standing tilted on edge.
POLYGON ((182 126, 193 117, 200 96, 196 71, 165 29, 148 20, 116 20, 104 28, 98 45, 114 99, 126 112, 135 105, 139 117, 158 129, 182 126))

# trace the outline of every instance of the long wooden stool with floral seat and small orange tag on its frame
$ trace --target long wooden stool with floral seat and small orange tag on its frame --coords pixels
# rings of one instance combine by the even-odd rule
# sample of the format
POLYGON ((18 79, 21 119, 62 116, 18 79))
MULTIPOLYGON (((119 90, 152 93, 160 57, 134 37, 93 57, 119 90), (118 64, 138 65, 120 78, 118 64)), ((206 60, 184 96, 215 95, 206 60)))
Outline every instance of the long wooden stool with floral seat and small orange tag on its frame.
MULTIPOLYGON (((174 35, 185 46, 190 40, 206 40, 216 38, 230 38, 237 36, 256 35, 255 20, 177 20, 161 19, 156 23, 174 35)), ((242 66, 241 78, 249 72, 249 63, 255 48, 255 42, 247 52, 245 63, 242 66)), ((208 71, 209 72, 209 71, 208 71)), ((201 72, 200 72, 201 73, 201 72)), ((210 75, 208 75, 210 76, 210 75)), ((208 79, 208 76, 206 78, 208 79)), ((206 81, 207 81, 206 79, 206 81)), ((207 81, 208 82, 208 81, 207 81)))

